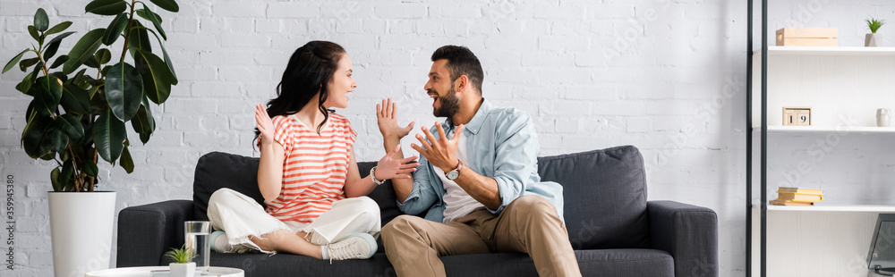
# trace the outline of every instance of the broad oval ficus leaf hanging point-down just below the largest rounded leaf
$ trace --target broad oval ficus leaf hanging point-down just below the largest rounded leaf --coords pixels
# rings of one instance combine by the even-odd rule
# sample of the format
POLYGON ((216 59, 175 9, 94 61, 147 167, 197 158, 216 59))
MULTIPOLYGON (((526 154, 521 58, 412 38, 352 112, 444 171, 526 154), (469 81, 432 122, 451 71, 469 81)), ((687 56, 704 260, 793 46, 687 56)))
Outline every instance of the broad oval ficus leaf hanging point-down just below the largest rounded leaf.
POLYGON ((93 143, 97 146, 99 156, 109 163, 115 163, 124 149, 124 139, 127 139, 124 122, 118 120, 111 111, 100 114, 93 125, 93 143))

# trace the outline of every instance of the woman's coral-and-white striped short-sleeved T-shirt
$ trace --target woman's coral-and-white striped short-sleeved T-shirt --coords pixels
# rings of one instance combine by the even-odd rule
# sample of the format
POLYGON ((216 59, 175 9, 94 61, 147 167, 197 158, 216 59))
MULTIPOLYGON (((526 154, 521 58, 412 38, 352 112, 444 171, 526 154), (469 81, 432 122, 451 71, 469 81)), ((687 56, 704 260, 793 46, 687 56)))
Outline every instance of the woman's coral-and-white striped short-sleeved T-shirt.
POLYGON ((272 119, 274 140, 283 146, 283 188, 273 201, 264 201, 267 213, 278 220, 310 223, 345 199, 345 177, 357 133, 345 116, 329 113, 320 134, 294 115, 272 119))

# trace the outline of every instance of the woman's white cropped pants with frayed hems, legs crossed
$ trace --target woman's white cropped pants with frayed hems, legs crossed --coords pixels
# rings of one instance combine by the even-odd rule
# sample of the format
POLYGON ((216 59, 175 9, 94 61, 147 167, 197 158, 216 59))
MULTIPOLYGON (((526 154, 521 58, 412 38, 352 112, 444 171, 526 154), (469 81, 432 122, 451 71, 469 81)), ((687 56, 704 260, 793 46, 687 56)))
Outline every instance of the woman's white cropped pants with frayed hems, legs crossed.
POLYGON ((303 231, 316 245, 327 245, 355 233, 369 233, 379 238, 382 227, 379 205, 370 197, 353 197, 333 202, 332 209, 320 214, 311 223, 281 222, 264 211, 255 199, 233 189, 217 189, 209 198, 209 221, 214 230, 226 231, 230 245, 242 244, 264 253, 250 237, 286 230, 303 231))

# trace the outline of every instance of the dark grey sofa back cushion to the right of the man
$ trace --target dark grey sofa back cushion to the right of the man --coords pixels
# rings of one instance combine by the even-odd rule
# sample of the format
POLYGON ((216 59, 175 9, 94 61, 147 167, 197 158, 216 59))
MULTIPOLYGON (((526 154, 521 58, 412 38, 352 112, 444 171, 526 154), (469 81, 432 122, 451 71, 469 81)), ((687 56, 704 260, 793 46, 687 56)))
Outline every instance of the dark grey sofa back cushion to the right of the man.
POLYGON ((649 248, 644 158, 636 147, 540 157, 538 172, 563 186, 572 248, 649 248))

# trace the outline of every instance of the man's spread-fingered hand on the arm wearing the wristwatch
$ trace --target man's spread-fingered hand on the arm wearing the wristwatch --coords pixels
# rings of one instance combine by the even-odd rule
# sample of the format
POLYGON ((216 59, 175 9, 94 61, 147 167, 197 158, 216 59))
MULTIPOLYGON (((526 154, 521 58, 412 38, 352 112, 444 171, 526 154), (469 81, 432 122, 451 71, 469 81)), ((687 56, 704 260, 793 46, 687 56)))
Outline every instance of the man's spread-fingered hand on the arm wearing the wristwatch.
MULTIPOLYGON (((463 124, 457 126, 456 131, 463 131, 463 126, 463 124)), ((456 159, 456 144, 460 140, 460 136, 455 132, 454 138, 447 139, 445 130, 441 128, 439 122, 435 122, 435 128, 439 131, 438 140, 432 136, 432 133, 428 129, 422 127, 422 132, 426 135, 426 139, 429 139, 429 141, 423 139, 422 135, 416 135, 416 139, 420 140, 420 145, 422 147, 417 146, 416 144, 411 144, 410 147, 413 147, 417 152, 420 152, 420 155, 425 156, 433 166, 438 166, 444 172, 452 171, 460 163, 460 161, 456 159)))

